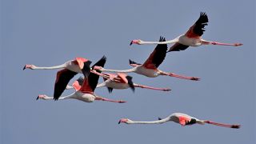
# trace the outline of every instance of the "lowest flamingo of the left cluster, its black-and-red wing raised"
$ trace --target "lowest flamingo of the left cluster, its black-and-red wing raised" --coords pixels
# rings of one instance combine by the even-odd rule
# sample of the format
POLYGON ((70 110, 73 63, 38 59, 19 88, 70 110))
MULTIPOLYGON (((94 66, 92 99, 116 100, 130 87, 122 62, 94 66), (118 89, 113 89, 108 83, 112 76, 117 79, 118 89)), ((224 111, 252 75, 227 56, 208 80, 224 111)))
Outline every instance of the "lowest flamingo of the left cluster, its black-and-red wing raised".
MULTIPOLYGON (((106 62, 106 58, 103 57, 98 62, 96 62, 94 66, 104 66, 105 62, 106 62)), ((60 98, 56 97, 55 95, 54 95, 54 97, 49 97, 45 94, 40 94, 37 99, 41 98, 44 100, 50 100, 50 99, 63 100, 63 99, 74 98, 74 99, 78 99, 83 102, 94 102, 95 100, 106 101, 106 102, 118 102, 118 103, 125 102, 125 101, 114 101, 114 100, 110 100, 107 98, 102 98, 102 97, 99 97, 98 95, 94 94, 94 90, 98 84, 98 78, 99 78, 98 74, 90 73, 88 78, 86 78, 86 80, 82 83, 81 88, 79 90, 77 90, 76 92, 74 92, 73 94, 70 94, 68 96, 63 96, 60 98)), ((63 78, 63 79, 65 79, 65 78, 63 78)), ((58 78, 56 80, 58 81, 58 78)), ((60 83, 60 84, 62 84, 63 86, 66 86, 63 83, 60 83)), ((64 87, 64 89, 65 89, 65 87, 64 87)), ((61 90, 58 90, 58 91, 61 91, 61 90)))

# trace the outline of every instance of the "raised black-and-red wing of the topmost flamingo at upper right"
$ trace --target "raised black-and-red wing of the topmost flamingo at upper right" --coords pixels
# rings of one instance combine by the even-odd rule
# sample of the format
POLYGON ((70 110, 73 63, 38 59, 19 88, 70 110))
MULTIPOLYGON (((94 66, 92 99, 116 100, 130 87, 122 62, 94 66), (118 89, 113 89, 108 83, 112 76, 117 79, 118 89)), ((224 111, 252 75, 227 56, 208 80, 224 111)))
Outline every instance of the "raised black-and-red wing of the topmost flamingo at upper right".
POLYGON ((188 30, 185 35, 188 38, 200 38, 205 31, 205 26, 208 25, 207 22, 209 21, 206 13, 201 12, 198 21, 190 27, 190 30, 188 30))

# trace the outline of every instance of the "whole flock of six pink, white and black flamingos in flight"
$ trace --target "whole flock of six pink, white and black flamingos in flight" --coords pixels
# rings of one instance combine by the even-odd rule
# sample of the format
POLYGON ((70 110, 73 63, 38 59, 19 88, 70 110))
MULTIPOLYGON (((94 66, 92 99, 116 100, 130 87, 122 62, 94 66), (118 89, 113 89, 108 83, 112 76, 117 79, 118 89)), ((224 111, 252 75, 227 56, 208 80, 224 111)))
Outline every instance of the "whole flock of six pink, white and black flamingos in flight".
MULTIPOLYGON (((129 70, 110 70, 103 68, 106 63, 106 57, 103 56, 98 62, 96 62, 93 66, 90 66, 90 60, 86 58, 75 58, 74 60, 70 60, 65 62, 59 66, 50 66, 50 67, 39 67, 34 65, 26 65, 23 70, 52 70, 52 69, 62 69, 57 73, 57 78, 54 85, 54 96, 49 97, 45 94, 40 94, 37 99, 44 100, 63 100, 74 98, 81 100, 83 102, 94 102, 98 101, 106 101, 106 102, 118 102, 123 103, 125 101, 122 100, 112 100, 108 98, 102 98, 97 94, 94 94, 94 90, 96 87, 106 86, 109 92, 111 93, 113 89, 127 89, 130 88, 134 90, 135 87, 146 88, 150 90, 162 90, 169 91, 168 88, 157 88, 151 86, 144 86, 141 84, 136 84, 132 81, 132 77, 127 75, 126 73, 137 73, 145 75, 149 78, 155 78, 158 76, 170 76, 175 78, 183 78, 193 81, 198 81, 199 78, 196 77, 188 77, 174 73, 167 73, 165 71, 159 70, 158 66, 166 58, 166 53, 171 51, 180 51, 186 50, 189 46, 202 46, 202 45, 220 45, 220 46, 242 46, 242 43, 222 43, 222 42, 211 42, 202 39, 202 34, 205 31, 205 26, 207 26, 208 17, 206 13, 200 14, 198 21, 194 23, 193 26, 186 32, 186 34, 182 34, 173 40, 166 41, 165 38, 160 37, 158 42, 145 42, 140 39, 135 39, 130 42, 132 44, 144 45, 144 44, 157 44, 154 48, 154 51, 150 54, 150 57, 146 59, 143 64, 134 62, 130 60, 130 66, 133 68, 129 70), (168 49, 167 44, 174 43, 173 46, 170 46, 168 49), (104 71, 116 72, 117 74, 107 74, 102 73, 104 71), (69 86, 68 83, 70 79, 74 77, 76 74, 83 74, 84 78, 80 77, 77 81, 75 81, 72 86, 69 86), (98 84, 98 78, 102 77, 104 82, 98 84), (73 94, 62 96, 62 92, 66 89, 73 89, 75 92, 73 94)), ((155 123, 163 123, 163 122, 177 122, 182 126, 200 124, 203 125, 205 123, 212 124, 215 126, 224 126, 230 128, 238 129, 240 125, 229 125, 222 124, 218 122, 211 122, 208 120, 200 120, 198 118, 191 117, 187 114, 182 113, 174 113, 168 116, 167 118, 158 118, 157 121, 132 121, 128 118, 121 118, 118 123, 124 122, 126 124, 155 124, 155 123)))

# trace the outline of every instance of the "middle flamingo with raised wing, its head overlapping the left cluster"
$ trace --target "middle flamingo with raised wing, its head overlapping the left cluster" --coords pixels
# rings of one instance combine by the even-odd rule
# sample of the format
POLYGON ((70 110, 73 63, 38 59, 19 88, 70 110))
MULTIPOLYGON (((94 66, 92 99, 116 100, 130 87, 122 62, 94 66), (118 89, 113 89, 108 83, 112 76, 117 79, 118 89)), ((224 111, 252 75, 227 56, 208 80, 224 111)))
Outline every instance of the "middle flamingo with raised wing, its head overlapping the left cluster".
MULTIPOLYGON (((166 42, 166 39, 160 37, 159 42, 166 42)), ((186 77, 186 76, 182 76, 174 73, 166 73, 162 70, 158 70, 158 66, 160 66, 160 64, 166 58, 166 50, 167 50, 166 44, 156 46, 154 51, 150 54, 150 57, 147 58, 144 64, 139 64, 137 62, 133 62, 130 60, 130 66, 134 66, 134 68, 129 70, 108 70, 108 69, 102 68, 101 66, 94 66, 94 70, 110 71, 110 72, 118 72, 118 73, 134 72, 137 74, 145 75, 146 77, 150 77, 150 78, 155 78, 155 77, 158 77, 159 75, 166 75, 170 77, 190 79, 194 81, 199 80, 199 78, 195 78, 195 77, 186 77)))

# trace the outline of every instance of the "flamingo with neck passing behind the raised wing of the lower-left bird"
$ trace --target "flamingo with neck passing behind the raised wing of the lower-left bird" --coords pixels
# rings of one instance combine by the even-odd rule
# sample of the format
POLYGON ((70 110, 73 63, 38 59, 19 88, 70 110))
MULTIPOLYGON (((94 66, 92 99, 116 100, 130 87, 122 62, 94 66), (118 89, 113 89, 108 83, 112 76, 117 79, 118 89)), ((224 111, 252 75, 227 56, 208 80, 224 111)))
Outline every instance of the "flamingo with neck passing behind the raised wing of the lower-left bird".
MULTIPOLYGON (((151 86, 144 86, 140 84, 136 84, 132 82, 132 77, 124 73, 118 74, 102 74, 104 82, 97 85, 98 87, 106 86, 109 92, 111 93, 113 89, 128 89, 130 87, 131 90, 134 91, 134 87, 140 87, 150 90, 162 90, 162 91, 170 91, 168 88, 156 88, 151 86)), ((80 86, 82 86, 82 82, 84 78, 80 77, 77 81, 75 81, 72 86, 66 86, 66 89, 75 88, 79 90, 80 86)))

